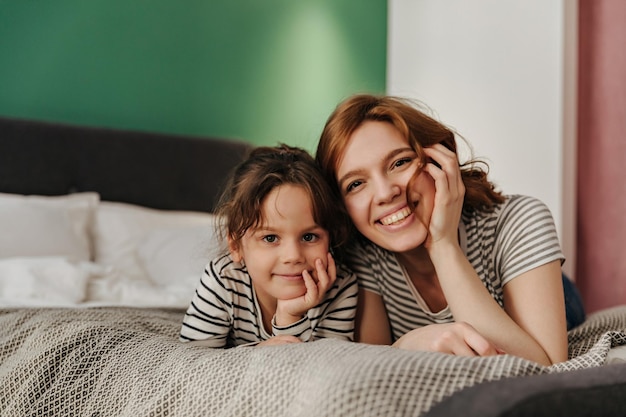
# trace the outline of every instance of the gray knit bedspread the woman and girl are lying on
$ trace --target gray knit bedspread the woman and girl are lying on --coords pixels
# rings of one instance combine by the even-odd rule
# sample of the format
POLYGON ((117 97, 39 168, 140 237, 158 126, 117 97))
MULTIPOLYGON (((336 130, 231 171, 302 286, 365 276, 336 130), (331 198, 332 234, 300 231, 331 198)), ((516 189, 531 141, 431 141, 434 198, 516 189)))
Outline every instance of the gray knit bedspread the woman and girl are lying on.
MULTIPOLYGON (((209 349, 178 342, 183 311, 0 310, 2 416, 420 416, 501 378, 601 366, 626 344, 626 306, 570 331, 550 367, 337 340, 209 349)), ((610 365, 609 365, 610 366, 610 365)))

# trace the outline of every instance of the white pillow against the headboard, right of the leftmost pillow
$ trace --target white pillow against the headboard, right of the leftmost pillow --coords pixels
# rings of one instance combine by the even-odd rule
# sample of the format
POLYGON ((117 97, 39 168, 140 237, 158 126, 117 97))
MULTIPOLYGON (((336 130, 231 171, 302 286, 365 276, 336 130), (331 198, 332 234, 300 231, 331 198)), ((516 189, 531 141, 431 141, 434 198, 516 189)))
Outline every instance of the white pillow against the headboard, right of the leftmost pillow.
MULTIPOLYGON (((150 255, 151 250, 150 248, 142 250, 143 260, 139 251, 144 242, 151 239, 153 236, 151 233, 162 229, 205 227, 208 236, 214 224, 214 217, 210 213, 156 210, 133 204, 102 201, 96 212, 93 228, 95 262, 113 266, 119 274, 129 280, 152 281, 147 270, 149 268, 154 271, 156 268, 150 265, 154 261, 150 255)), ((157 246, 159 245, 152 247, 157 246)), ((162 253, 159 256, 162 256, 158 260, 159 265, 171 263, 168 268, 175 269, 178 267, 177 259, 183 255, 162 253)), ((193 253, 189 253, 188 256, 193 256, 193 253)), ((189 268, 190 266, 185 264, 183 273, 189 268)), ((163 274, 158 275, 154 281, 164 282, 163 274)))

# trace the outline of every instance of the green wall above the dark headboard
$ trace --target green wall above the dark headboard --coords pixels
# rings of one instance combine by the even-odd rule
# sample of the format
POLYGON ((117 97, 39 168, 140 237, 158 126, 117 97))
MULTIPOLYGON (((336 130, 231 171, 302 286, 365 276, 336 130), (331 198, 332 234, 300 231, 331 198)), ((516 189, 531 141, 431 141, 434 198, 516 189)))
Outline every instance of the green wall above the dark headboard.
POLYGON ((314 150, 386 42, 386 0, 0 0, 0 115, 314 150))

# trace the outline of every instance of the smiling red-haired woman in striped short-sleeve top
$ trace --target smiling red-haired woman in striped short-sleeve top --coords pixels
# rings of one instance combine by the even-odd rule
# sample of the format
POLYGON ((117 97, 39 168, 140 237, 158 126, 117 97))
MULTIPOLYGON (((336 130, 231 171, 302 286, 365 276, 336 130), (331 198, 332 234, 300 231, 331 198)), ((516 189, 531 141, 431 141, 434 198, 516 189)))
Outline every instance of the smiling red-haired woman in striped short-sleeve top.
POLYGON ((358 341, 567 360, 564 256, 542 202, 495 190, 480 161, 459 163, 452 130, 400 98, 341 103, 316 159, 359 236, 358 341))

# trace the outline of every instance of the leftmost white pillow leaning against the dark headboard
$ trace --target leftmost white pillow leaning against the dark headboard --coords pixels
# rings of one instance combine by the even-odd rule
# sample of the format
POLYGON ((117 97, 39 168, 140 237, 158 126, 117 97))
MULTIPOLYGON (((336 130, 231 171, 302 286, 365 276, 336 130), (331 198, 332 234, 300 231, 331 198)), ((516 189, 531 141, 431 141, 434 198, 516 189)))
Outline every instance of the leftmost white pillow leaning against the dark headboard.
POLYGON ((97 193, 38 196, 0 193, 0 258, 62 256, 89 261, 97 193))

